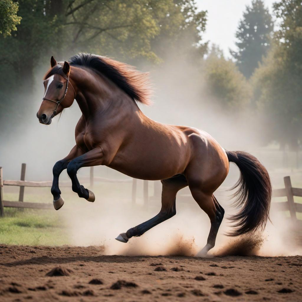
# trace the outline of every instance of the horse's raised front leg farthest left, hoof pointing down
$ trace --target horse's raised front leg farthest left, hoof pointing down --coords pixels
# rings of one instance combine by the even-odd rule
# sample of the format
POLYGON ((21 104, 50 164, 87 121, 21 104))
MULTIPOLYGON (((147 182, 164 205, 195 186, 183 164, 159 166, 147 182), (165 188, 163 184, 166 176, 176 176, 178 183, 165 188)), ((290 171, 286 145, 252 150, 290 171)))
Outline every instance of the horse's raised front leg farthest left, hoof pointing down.
POLYGON ((74 146, 65 158, 59 160, 53 166, 53 185, 50 191, 53 194, 53 206, 56 210, 59 210, 64 204, 59 188, 59 176, 67 168, 69 162, 81 154, 83 154, 82 150, 78 146, 74 146))

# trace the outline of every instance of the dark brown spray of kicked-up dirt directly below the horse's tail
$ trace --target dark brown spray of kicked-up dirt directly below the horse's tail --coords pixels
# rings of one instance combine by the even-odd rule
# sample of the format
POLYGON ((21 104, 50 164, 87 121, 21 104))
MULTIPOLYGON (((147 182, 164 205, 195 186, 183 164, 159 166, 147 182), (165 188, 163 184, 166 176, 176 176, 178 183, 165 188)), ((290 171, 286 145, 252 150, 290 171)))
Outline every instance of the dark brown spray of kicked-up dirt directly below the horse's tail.
POLYGON ((264 239, 259 233, 242 235, 231 239, 228 245, 215 253, 215 256, 255 256, 263 242, 264 239))

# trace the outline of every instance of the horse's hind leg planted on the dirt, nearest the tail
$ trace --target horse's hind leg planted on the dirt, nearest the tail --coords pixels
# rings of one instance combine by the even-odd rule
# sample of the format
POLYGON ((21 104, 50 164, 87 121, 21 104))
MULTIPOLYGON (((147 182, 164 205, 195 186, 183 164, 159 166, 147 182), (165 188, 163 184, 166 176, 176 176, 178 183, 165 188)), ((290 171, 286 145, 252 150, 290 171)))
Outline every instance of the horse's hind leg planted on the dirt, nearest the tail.
POLYGON ((211 222, 207 244, 195 255, 195 257, 206 257, 208 251, 215 246, 216 236, 224 216, 224 209, 214 195, 205 194, 199 187, 190 187, 190 190, 193 198, 199 207, 207 213, 211 222))

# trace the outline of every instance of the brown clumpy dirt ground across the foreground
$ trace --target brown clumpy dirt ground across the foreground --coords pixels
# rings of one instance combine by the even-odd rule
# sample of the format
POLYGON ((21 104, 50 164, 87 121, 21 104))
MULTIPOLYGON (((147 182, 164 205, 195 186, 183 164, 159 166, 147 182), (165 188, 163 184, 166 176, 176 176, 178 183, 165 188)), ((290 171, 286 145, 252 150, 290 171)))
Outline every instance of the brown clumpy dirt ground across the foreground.
POLYGON ((0 301, 302 301, 302 256, 130 257, 95 246, 6 245, 0 256, 0 301))

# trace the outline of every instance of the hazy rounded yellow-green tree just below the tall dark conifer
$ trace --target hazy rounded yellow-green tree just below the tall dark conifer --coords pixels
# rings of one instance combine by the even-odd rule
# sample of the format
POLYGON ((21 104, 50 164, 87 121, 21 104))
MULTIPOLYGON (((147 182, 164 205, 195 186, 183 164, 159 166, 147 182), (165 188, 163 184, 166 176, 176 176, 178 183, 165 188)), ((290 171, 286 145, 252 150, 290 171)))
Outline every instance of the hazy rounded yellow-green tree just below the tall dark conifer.
POLYGON ((204 63, 207 92, 224 110, 243 109, 249 104, 251 88, 232 60, 226 60, 215 45, 204 63))

